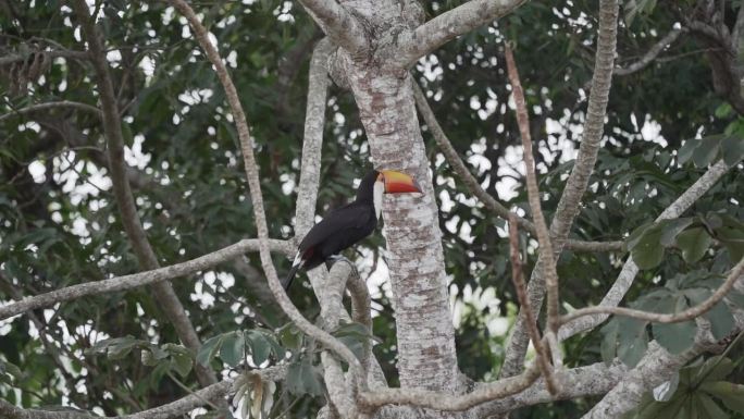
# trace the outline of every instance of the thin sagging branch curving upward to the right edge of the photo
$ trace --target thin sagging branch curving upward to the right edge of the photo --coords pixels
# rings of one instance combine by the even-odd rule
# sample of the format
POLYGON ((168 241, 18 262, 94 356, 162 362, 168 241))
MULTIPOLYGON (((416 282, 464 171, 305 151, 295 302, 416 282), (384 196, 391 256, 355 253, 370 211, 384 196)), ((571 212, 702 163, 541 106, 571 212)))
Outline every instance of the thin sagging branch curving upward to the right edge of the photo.
POLYGON ((579 310, 572 311, 561 318, 561 322, 567 323, 573 319, 581 318, 583 316, 591 316, 591 315, 600 315, 600 313, 609 313, 609 315, 616 315, 616 316, 625 316, 625 317, 631 317, 633 319, 638 319, 638 320, 647 320, 647 321, 653 321, 657 323, 679 323, 682 321, 687 321, 692 320, 696 317, 699 317, 700 315, 706 313, 708 310, 710 310, 718 301, 723 299, 727 294, 731 291, 733 287, 734 283, 739 280, 740 276, 742 276, 742 273, 744 273, 744 258, 736 263, 735 267, 731 270, 729 275, 727 276, 726 281, 723 284, 721 284, 718 289, 716 289, 710 297, 708 297, 705 301, 698 304, 697 306, 690 307, 686 310, 680 311, 674 315, 662 315, 662 313, 656 313, 656 312, 648 312, 648 311, 643 311, 643 310, 634 310, 630 308, 624 308, 624 307, 602 307, 602 306, 596 306, 596 307, 586 307, 586 308, 581 308, 579 310))

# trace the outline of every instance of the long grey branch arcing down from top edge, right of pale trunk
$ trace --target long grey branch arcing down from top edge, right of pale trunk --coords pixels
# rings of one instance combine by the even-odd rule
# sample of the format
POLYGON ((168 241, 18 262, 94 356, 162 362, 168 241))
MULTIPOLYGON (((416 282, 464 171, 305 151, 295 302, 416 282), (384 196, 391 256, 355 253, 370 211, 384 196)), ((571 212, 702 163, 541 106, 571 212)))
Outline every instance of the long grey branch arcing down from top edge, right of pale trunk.
MULTIPOLYGON (((588 177, 593 171, 594 162, 599 151, 609 90, 612 81, 612 67, 618 35, 618 0, 600 0, 599 2, 599 28, 597 52, 592 76, 592 90, 590 93, 586 121, 584 123, 584 136, 579 149, 579 156, 569 175, 563 195, 560 197, 558 208, 550 224, 550 238, 554 251, 559 255, 571 230, 573 220, 579 212, 581 197, 588 185, 588 177)), ((532 306, 536 310, 543 304, 545 294, 545 279, 543 278, 545 257, 541 252, 528 292, 532 306)), ((524 328, 524 316, 520 313, 514 332, 509 340, 506 350, 501 375, 509 377, 522 369, 524 354, 529 342, 529 334, 524 328)))

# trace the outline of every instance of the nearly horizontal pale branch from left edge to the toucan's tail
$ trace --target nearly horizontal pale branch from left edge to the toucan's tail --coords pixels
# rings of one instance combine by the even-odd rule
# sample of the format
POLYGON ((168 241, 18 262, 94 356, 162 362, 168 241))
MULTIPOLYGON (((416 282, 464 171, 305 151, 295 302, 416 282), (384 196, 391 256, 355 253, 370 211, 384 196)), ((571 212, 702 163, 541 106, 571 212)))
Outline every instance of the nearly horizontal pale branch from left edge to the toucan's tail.
MULTIPOLYGON (((288 242, 270 241, 270 246, 274 251, 285 255, 293 255, 294 250, 288 242)), ((236 258, 247 251, 256 251, 259 248, 259 241, 243 239, 234 245, 220 250, 200 256, 186 262, 172 264, 170 267, 158 268, 151 271, 138 272, 129 275, 114 276, 110 280, 86 282, 83 284, 67 286, 46 294, 26 297, 17 303, 7 304, 0 307, 0 320, 35 310, 37 308, 49 307, 57 303, 69 301, 71 299, 86 296, 114 293, 117 291, 132 289, 144 285, 149 285, 159 281, 171 280, 177 276, 187 275, 194 272, 211 268, 218 263, 236 258)))

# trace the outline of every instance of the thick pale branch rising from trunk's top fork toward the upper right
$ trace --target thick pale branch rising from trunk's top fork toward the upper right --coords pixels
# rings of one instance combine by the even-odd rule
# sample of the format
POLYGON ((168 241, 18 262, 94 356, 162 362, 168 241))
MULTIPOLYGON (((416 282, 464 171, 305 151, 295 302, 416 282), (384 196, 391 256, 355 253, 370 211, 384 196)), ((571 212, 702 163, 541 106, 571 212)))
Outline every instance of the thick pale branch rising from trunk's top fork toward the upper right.
POLYGON ((399 47, 397 61, 408 69, 421 57, 434 51, 459 35, 500 19, 526 0, 470 0, 450 11, 439 14, 407 36, 399 47))

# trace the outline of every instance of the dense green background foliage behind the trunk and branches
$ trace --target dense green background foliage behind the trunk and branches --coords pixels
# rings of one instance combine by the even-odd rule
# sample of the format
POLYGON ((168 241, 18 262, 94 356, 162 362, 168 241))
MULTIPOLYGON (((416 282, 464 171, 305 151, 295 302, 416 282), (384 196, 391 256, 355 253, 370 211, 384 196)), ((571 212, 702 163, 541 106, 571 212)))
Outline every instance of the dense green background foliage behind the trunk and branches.
MULTIPOLYGON (((434 16, 459 3, 425 7, 434 16)), ((617 60, 621 67, 700 13, 693 1, 652 3, 656 2, 625 5, 617 60)), ((721 3, 727 16, 741 7, 721 3)), ((23 111, 60 100, 97 106, 90 63, 79 53, 85 46, 74 13, 59 1, 0 7, 0 300, 138 271, 107 175, 98 113, 65 106, 23 111)), ((270 234, 290 238, 307 66, 321 33, 295 2, 218 0, 195 8, 232 67, 251 123, 270 234)), ((232 116, 185 20, 158 2, 96 2, 96 10, 122 109, 129 181, 161 264, 255 237, 232 116)), ((595 29, 595 1, 532 1, 507 19, 447 44, 421 60, 412 74, 473 174, 509 208, 529 212, 503 45, 516 46, 549 218, 581 139, 595 29)), ((558 270, 567 305, 598 303, 627 251, 643 269, 627 298, 629 305, 659 312, 704 299, 720 283, 720 274, 741 259, 744 119, 714 86, 715 52, 706 53, 709 48, 699 36, 684 33, 647 67, 615 77, 606 140, 573 237, 628 239, 627 248, 565 251, 558 270), (739 167, 683 219, 653 223, 720 158, 739 167)), ((369 147, 351 96, 334 88, 328 112, 319 213, 351 196, 355 180, 369 165, 369 147)), ((504 324, 516 313, 505 221, 472 197, 434 141, 426 134, 425 138, 439 198, 460 368, 475 380, 494 379, 504 355, 504 324)), ((526 269, 535 257, 530 243, 526 269)), ((375 276, 384 279, 382 247, 382 235, 376 234, 364 242, 361 256, 348 256, 358 260, 362 275, 376 271, 375 276)), ((287 260, 275 261, 280 272, 288 269, 287 260)), ((173 400, 195 389, 195 361, 231 373, 241 368, 248 354, 253 365, 265 365, 288 349, 293 385, 280 385, 272 415, 314 415, 320 398, 303 394, 322 394, 313 370, 315 355, 300 350, 301 336, 285 325, 264 285, 258 256, 179 279, 174 287, 204 342, 198 354, 179 345, 148 288, 64 303, 0 323, 0 397, 27 407, 70 405, 117 415, 173 400)), ((388 292, 381 286, 373 295, 374 335, 380 341, 374 352, 395 383, 388 292)), ((318 312, 307 286, 296 286, 292 299, 306 316, 318 312)), ((742 299, 733 295, 731 301, 744 305, 742 299)), ((707 317, 717 337, 732 333, 730 310, 720 305, 707 317)), ((602 332, 568 341, 567 362, 585 365, 617 355, 633 363, 652 337, 681 352, 691 344, 691 330, 694 322, 659 326, 613 319, 602 332)), ((364 338, 354 325, 337 334, 352 346, 364 338)), ((742 359, 741 340, 726 355, 742 359)), ((679 385, 690 384, 696 368, 717 371, 710 383, 743 382, 744 366, 728 358, 721 358, 723 367, 706 363, 683 370, 679 385)), ((726 415, 741 407, 718 396, 710 403, 726 415)), ((574 417, 585 408, 583 400, 571 400, 525 408, 519 415, 574 417)))

